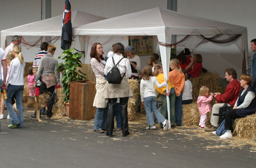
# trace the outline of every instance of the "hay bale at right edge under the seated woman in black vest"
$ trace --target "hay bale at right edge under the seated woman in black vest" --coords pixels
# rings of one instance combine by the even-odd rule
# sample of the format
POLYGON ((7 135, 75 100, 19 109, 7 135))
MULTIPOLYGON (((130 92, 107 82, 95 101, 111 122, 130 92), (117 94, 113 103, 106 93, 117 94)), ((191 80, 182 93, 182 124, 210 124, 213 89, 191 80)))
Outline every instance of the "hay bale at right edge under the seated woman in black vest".
POLYGON ((256 139, 256 114, 236 119, 235 125, 234 133, 238 137, 256 139))

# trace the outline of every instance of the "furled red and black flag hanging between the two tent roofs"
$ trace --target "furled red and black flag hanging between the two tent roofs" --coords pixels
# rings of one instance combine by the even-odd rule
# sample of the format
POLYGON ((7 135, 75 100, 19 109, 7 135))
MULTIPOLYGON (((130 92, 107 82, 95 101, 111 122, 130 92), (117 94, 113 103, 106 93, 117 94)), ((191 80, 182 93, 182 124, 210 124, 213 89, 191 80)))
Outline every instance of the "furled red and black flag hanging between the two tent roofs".
POLYGON ((71 3, 65 0, 61 32, 61 49, 67 50, 72 42, 71 3))

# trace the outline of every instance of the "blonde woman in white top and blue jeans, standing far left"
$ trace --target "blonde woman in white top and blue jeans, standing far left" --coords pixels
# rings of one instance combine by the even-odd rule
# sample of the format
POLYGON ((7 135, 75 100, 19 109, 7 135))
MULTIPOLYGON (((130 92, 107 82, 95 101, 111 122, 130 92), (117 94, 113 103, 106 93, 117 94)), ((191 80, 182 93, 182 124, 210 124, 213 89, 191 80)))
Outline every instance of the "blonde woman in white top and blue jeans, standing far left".
POLYGON ((6 77, 7 84, 7 100, 5 105, 9 111, 11 118, 11 124, 9 128, 23 128, 23 106, 22 106, 22 96, 24 89, 24 68, 26 63, 24 63, 24 58, 21 52, 21 47, 15 45, 13 48, 13 54, 15 58, 10 63, 10 68, 6 77), (11 98, 16 96, 16 107, 18 109, 18 115, 16 115, 13 106, 11 105, 11 98))

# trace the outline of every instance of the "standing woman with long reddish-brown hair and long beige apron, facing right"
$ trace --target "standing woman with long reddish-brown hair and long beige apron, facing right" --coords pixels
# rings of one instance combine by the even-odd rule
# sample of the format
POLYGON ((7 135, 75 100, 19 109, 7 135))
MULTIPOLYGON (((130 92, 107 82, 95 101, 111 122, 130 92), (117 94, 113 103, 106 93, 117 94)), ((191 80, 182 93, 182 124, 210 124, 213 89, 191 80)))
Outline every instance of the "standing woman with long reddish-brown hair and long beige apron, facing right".
MULTIPOLYGON (((100 43, 96 42, 92 45, 90 50, 90 64, 92 66, 93 73, 96 77, 96 95, 94 98, 93 106, 97 107, 94 117, 93 130, 97 133, 104 133, 106 129, 106 121, 108 117, 107 100, 103 95, 107 90, 107 80, 104 77, 105 64, 102 63, 103 48, 100 43)), ((106 93, 107 94, 107 93, 106 93)))

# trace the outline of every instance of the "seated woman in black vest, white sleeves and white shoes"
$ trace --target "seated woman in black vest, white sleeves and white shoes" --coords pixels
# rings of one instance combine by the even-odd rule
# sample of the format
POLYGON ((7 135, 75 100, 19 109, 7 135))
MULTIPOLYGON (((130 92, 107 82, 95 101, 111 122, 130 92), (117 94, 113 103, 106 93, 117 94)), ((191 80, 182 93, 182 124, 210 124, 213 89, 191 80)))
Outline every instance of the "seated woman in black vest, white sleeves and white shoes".
MULTIPOLYGON (((241 76, 241 91, 233 110, 226 111, 225 113, 225 130, 221 139, 232 138, 232 119, 246 117, 247 115, 254 114, 256 111, 256 98, 255 89, 251 87, 253 78, 250 75, 244 74, 241 76)), ((216 131, 214 131, 215 133, 216 131)))

